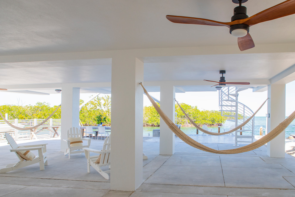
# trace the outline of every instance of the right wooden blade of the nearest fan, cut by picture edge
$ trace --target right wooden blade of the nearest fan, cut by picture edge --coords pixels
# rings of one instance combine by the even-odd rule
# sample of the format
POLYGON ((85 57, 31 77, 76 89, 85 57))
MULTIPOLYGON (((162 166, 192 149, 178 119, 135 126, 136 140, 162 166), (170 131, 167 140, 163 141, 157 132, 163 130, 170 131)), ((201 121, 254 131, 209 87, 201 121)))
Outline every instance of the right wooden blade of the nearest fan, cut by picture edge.
POLYGON ((242 23, 252 26, 257 23, 278 19, 291 14, 295 14, 295 0, 287 0, 266 10, 263 10, 260 13, 254 14, 253 16, 244 19, 245 22, 242 23))

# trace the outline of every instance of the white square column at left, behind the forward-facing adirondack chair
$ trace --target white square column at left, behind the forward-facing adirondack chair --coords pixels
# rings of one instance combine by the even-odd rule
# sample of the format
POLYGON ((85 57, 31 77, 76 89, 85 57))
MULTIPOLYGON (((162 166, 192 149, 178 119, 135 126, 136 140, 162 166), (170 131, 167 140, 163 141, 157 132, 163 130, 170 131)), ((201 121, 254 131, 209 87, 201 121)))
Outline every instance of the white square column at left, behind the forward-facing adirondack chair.
POLYGON ((67 131, 71 127, 79 128, 79 104, 80 88, 63 84, 61 91, 60 151, 65 151, 67 148, 66 142, 63 141, 63 139, 67 139, 67 131))

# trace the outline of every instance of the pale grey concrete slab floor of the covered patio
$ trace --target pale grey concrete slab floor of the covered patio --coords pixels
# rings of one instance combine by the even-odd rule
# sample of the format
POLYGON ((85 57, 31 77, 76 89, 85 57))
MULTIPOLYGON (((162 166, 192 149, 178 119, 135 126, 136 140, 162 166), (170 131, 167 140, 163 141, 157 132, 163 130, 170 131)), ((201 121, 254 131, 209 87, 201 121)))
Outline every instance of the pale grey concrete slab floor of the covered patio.
MULTIPOLYGON (((235 148, 231 136, 194 138, 214 149, 235 148)), ((59 152, 59 138, 51 138, 17 142, 48 143, 48 166, 40 171, 39 164, 34 164, 0 174, 0 196, 295 196, 295 158, 288 154, 270 158, 263 146, 246 153, 218 155, 176 138, 175 154, 159 155, 159 138, 145 139, 148 159, 143 160, 143 184, 135 192, 110 190, 110 181, 92 167, 87 173, 84 154, 68 159, 59 152)), ((92 140, 90 147, 101 150, 102 145, 103 141, 92 140)), ((18 161, 9 149, 0 142, 0 168, 18 161)))

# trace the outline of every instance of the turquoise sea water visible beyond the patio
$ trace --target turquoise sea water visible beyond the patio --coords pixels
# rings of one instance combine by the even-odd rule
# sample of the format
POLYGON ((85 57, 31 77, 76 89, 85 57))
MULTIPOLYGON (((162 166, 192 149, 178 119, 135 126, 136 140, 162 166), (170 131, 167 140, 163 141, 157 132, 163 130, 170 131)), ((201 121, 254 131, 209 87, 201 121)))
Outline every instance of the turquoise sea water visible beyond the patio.
MULTIPOLYGON (((287 117, 286 117, 287 118, 287 117)), ((220 132, 223 132, 223 129, 229 129, 235 122, 226 120, 226 122, 220 127, 220 132)), ((266 128, 266 117, 263 116, 255 116, 255 127, 254 132, 255 135, 259 135, 260 127, 266 128)), ((218 127, 209 127, 212 128, 212 132, 218 132, 218 127)), ((150 136, 153 136, 153 129, 159 129, 159 127, 143 127, 143 135, 147 136, 150 133, 150 136)), ((195 127, 180 127, 180 129, 186 134, 196 134, 195 127)), ((201 134, 203 132, 199 132, 201 134)), ((251 132, 243 132, 245 135, 251 135, 251 132)), ((288 137, 290 134, 295 134, 295 120, 289 124, 289 126, 285 129, 285 136, 288 137)))

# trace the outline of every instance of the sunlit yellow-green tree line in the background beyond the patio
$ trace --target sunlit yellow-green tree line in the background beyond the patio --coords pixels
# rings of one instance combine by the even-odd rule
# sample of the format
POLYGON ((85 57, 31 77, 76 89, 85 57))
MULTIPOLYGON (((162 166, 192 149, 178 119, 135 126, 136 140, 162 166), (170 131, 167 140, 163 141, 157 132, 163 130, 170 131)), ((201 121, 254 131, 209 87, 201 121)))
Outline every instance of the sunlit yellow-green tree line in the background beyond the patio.
MULTIPOLYGON (((84 101, 80 100, 80 104, 84 101)), ((221 113, 214 110, 198 110, 197 106, 191 106, 185 103, 180 103, 184 111, 198 125, 206 124, 208 126, 219 126, 225 122, 226 118, 221 116, 221 113)), ((1 113, 8 114, 8 119, 45 119, 58 106, 50 107, 49 103, 38 102, 36 105, 1 105, 1 113)), ((61 118, 62 106, 53 114, 52 118, 61 118)), ((188 119, 184 116, 178 105, 175 107, 177 113, 177 124, 182 126, 191 126, 188 119)), ((111 96, 95 97, 80 110, 80 121, 84 126, 93 126, 100 123, 111 125, 111 96)), ((143 126, 159 126, 160 116, 151 106, 143 107, 143 126)))

